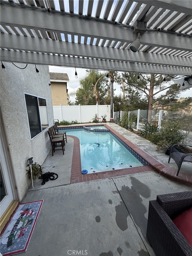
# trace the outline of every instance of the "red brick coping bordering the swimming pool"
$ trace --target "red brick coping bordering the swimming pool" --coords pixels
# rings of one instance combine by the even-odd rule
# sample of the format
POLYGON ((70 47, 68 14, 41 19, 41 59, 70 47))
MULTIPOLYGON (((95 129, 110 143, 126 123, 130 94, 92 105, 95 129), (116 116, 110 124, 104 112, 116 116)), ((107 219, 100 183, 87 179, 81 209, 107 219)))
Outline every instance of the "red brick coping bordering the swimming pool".
MULTIPOLYGON (((93 125, 93 124, 91 124, 91 125, 93 125)), ((99 125, 101 125, 101 124, 99 124, 99 125)), ((129 141, 128 139, 123 137, 121 134, 119 134, 117 131, 115 131, 110 126, 108 126, 106 124, 103 124, 103 125, 106 126, 106 128, 108 128, 113 134, 118 136, 123 142, 125 142, 125 144, 130 146, 137 154, 139 154, 144 160, 146 160, 149 163, 149 165, 144 165, 144 166, 139 166, 139 167, 131 167, 131 168, 119 169, 119 170, 111 170, 111 171, 105 171, 105 172, 98 172, 98 173, 82 174, 81 173, 81 157, 80 157, 79 139, 75 136, 67 135, 74 139, 70 183, 78 183, 78 182, 85 182, 85 181, 91 181, 91 180, 123 176, 123 175, 128 175, 128 174, 133 174, 133 173, 143 173, 143 172, 155 171, 173 181, 192 186, 192 175, 191 174, 180 172, 179 175, 176 176, 175 170, 165 166, 164 164, 159 163, 152 156, 148 155, 146 152, 144 152, 142 149, 140 149, 134 143, 132 143, 131 141, 129 141)), ((77 125, 77 126, 82 126, 82 125, 77 125)), ((95 124, 94 124, 94 126, 95 126, 95 124)), ((70 126, 65 126, 65 127, 70 127, 70 126)), ((62 127, 62 128, 64 128, 64 127, 62 127)))

